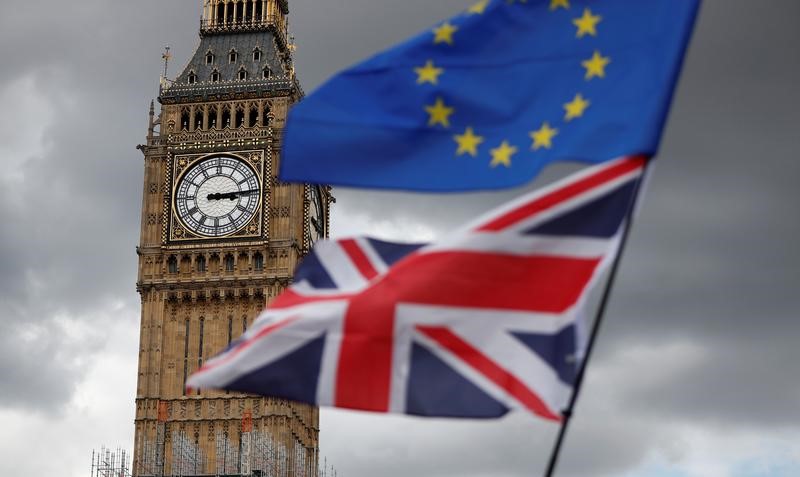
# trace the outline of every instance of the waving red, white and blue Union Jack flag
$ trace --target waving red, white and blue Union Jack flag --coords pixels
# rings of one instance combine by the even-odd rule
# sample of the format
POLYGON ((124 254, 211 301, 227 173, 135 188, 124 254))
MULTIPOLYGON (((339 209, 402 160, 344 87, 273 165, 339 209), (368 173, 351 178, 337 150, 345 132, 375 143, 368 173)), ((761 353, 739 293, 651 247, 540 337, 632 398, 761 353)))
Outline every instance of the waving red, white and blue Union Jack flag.
POLYGON ((429 245, 319 243, 294 284, 187 386, 440 417, 560 420, 579 317, 645 159, 523 196, 429 245))

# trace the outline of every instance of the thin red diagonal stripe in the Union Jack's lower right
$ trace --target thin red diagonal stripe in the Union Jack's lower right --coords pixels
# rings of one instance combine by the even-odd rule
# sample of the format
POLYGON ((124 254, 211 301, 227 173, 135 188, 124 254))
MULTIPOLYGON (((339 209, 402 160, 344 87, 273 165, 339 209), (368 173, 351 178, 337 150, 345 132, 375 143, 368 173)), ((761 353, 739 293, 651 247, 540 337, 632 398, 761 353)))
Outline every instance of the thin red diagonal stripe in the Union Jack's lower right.
POLYGON ((416 328, 422 334, 458 356, 459 359, 478 371, 489 381, 504 389, 533 413, 545 419, 561 421, 561 417, 553 413, 553 411, 547 407, 547 404, 545 404, 535 392, 528 388, 525 383, 517 379, 512 373, 506 371, 491 358, 481 353, 478 348, 467 343, 449 329, 419 325, 416 328))

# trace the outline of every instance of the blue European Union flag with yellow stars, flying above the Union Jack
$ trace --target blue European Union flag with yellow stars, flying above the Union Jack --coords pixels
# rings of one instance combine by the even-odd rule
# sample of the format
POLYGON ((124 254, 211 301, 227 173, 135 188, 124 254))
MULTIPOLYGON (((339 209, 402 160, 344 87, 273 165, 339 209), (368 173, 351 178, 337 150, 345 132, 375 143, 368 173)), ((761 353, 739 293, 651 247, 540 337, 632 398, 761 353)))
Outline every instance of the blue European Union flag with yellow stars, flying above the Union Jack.
POLYGON ((481 0, 334 76, 288 119, 281 179, 497 189, 655 154, 699 0, 481 0))

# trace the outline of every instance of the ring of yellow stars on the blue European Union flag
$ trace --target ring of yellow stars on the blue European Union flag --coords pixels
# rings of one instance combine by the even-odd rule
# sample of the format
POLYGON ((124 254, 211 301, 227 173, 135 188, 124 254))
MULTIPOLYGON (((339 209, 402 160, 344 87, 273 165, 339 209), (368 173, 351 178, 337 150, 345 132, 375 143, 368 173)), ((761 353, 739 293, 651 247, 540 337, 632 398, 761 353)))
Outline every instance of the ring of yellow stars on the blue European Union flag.
MULTIPOLYGON (((467 8, 465 14, 469 16, 483 15, 491 1, 492 0, 479 0, 471 7, 467 8)), ((507 4, 528 3, 528 0, 505 1, 507 4)), ((570 11, 571 8, 570 0, 550 0, 549 11, 551 13, 560 10, 570 11)), ((602 21, 602 16, 596 14, 588 7, 584 8, 580 16, 572 19, 576 39, 580 41, 587 37, 597 37, 599 34, 599 26, 602 21)), ((452 47, 456 44, 458 32, 459 27, 457 25, 445 21, 432 30, 433 44, 440 45, 443 48, 452 47)), ((611 58, 603 56, 600 51, 595 50, 590 58, 581 62, 581 66, 585 70, 584 80, 588 82, 605 78, 606 68, 610 63, 611 58)), ((417 77, 417 85, 437 86, 440 77, 445 75, 447 71, 445 68, 436 65, 433 60, 428 60, 425 64, 415 67, 414 73, 417 77)), ((564 123, 571 123, 572 121, 579 120, 584 116, 591 105, 592 102, 588 98, 585 98, 581 92, 576 93, 571 100, 563 104, 564 123)), ((431 128, 449 129, 450 117, 456 113, 456 109, 452 105, 448 105, 441 96, 436 98, 434 104, 426 104, 424 110, 428 115, 427 124, 431 128)), ((542 122, 538 128, 531 130, 528 134, 531 140, 530 150, 536 152, 552 149, 559 132, 560 131, 553 127, 550 122, 542 122)), ((473 126, 467 126, 463 133, 453 135, 453 141, 456 143, 456 157, 478 157, 480 148, 486 142, 486 138, 479 135, 473 126)), ((518 153, 519 148, 513 145, 510 140, 504 139, 499 145, 489 150, 491 156, 489 167, 510 168, 514 156, 518 153)))

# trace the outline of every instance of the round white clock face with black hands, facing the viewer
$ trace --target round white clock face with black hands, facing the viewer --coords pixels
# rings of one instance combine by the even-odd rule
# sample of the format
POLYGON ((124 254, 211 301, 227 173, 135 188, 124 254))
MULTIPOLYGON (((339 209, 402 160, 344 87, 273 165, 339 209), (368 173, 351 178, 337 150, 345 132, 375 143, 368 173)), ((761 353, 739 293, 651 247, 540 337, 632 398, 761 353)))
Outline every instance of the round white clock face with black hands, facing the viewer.
POLYGON ((178 180, 175 211, 183 225, 204 237, 241 230, 258 211, 261 187, 255 170, 233 156, 209 156, 178 180))

